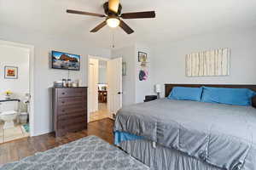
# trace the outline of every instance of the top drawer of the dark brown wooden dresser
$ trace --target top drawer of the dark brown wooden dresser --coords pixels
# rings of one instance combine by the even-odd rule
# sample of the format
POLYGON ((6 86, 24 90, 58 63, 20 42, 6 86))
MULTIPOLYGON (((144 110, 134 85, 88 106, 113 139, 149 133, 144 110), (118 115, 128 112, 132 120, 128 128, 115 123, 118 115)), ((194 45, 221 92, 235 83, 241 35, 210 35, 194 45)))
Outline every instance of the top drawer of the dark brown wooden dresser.
POLYGON ((76 97, 76 96, 86 96, 87 90, 83 88, 60 88, 58 89, 58 97, 76 97))

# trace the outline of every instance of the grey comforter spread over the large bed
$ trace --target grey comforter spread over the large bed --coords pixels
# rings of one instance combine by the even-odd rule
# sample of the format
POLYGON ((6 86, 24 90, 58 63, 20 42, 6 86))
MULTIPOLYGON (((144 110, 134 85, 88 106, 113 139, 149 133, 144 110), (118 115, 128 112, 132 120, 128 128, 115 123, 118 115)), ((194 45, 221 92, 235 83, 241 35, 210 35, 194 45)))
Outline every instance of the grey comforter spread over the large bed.
POLYGON ((114 130, 224 169, 256 169, 256 109, 251 106, 159 99, 121 109, 114 130))

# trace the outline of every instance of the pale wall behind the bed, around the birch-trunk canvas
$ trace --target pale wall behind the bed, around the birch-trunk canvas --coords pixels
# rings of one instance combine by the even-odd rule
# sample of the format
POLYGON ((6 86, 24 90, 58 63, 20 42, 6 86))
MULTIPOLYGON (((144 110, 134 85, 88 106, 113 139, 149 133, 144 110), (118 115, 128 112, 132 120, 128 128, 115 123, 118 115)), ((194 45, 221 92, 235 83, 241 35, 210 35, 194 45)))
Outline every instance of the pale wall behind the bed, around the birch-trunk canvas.
MULTIPOLYGON (((255 84, 256 31, 220 31, 191 37, 180 42, 162 42, 152 47, 153 84, 165 83, 233 83, 255 84), (185 55, 192 52, 230 48, 231 63, 228 77, 185 77, 185 55)), ((162 93, 164 95, 164 93, 162 93)))

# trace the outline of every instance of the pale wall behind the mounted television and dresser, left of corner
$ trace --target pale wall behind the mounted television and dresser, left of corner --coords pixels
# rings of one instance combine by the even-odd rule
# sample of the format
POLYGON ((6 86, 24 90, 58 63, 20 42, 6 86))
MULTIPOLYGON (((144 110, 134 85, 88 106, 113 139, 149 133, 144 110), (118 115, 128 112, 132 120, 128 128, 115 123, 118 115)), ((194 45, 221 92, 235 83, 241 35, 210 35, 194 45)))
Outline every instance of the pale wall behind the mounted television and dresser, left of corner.
MULTIPOLYGON (((83 85, 87 85, 87 56, 88 54, 110 57, 110 50, 91 47, 90 42, 83 39, 65 39, 41 34, 41 32, 22 31, 19 28, 0 26, 0 39, 10 42, 30 44, 35 47, 34 59, 34 91, 35 135, 49 133, 53 130, 50 89, 53 82, 67 78, 67 71, 53 70, 49 68, 50 50, 63 51, 71 54, 81 54, 81 71, 71 71, 72 79, 81 79, 83 85)), ((64 35, 65 36, 65 35, 64 35)))

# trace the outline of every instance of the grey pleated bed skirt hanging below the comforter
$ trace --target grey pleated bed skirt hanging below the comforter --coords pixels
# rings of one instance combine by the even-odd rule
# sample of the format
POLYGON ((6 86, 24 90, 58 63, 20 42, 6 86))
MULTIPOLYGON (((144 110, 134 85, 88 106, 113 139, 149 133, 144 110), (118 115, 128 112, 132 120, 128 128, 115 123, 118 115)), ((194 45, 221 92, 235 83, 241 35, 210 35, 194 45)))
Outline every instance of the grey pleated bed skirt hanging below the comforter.
POLYGON ((146 139, 126 140, 119 147, 150 167, 150 170, 224 170, 160 144, 154 147, 146 139))

